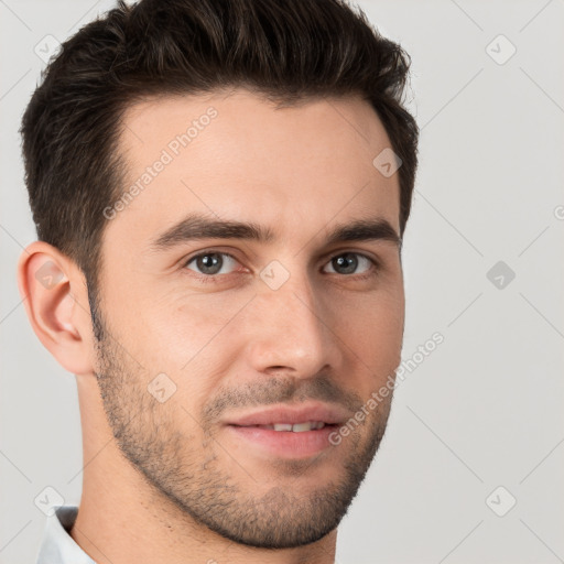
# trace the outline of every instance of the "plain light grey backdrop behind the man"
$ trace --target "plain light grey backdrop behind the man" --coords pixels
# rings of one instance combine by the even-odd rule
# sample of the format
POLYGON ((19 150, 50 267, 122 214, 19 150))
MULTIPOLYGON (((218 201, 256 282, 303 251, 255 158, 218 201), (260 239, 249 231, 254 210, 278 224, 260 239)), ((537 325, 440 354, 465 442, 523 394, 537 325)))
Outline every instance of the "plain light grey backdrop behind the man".
MULTIPOLYGON (((110 6, 0 0, 1 563, 34 562, 45 486, 66 503, 82 488, 74 377, 35 337, 15 284, 35 239, 18 128, 44 67, 35 45, 110 6)), ((337 562, 564 562, 564 1, 359 6, 412 55, 422 127, 403 358, 435 332, 445 340, 395 392, 337 562), (490 56, 510 54, 499 34, 517 47, 505 64, 490 56), (498 261, 516 273, 502 289, 487 278, 498 261), (505 517, 486 502, 499 486, 490 507, 517 499, 505 517)))

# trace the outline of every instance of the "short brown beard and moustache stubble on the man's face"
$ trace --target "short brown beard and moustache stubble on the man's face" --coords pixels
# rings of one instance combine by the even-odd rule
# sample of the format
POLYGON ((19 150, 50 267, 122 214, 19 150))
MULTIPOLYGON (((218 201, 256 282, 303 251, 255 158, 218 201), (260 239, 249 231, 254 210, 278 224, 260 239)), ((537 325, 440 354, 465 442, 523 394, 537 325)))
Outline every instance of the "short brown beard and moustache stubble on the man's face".
MULTIPOLYGON (((311 460, 272 460, 259 471, 250 460, 237 460, 216 438, 220 412, 302 398, 333 399, 355 412, 361 399, 327 379, 311 380, 311 386, 302 380, 299 387, 295 379, 273 377, 243 391, 223 390, 195 416, 172 398, 156 401, 147 388, 148 370, 124 351, 101 318, 97 322, 102 339, 97 341, 96 377, 108 423, 120 452, 162 501, 163 514, 171 514, 172 503, 197 527, 263 549, 311 544, 339 524, 383 437, 391 394, 340 445, 329 447, 345 449, 333 457, 341 465, 338 473, 332 469, 336 478, 319 484, 329 464, 324 453, 311 460), (319 485, 300 495, 304 490, 300 482, 312 475, 319 485)), ((184 378, 189 386, 189 375, 184 378)))

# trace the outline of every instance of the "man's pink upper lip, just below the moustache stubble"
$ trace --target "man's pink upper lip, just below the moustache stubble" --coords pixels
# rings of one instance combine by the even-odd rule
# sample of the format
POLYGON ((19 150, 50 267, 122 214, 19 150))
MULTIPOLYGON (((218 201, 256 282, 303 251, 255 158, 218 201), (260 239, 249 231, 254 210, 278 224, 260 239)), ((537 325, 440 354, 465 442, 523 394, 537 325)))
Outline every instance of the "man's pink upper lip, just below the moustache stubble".
POLYGON ((345 422, 347 417, 348 412, 343 408, 328 403, 279 404, 229 419, 226 424, 251 426, 291 423, 293 425, 295 423, 305 423, 306 421, 321 421, 326 425, 334 425, 345 422))

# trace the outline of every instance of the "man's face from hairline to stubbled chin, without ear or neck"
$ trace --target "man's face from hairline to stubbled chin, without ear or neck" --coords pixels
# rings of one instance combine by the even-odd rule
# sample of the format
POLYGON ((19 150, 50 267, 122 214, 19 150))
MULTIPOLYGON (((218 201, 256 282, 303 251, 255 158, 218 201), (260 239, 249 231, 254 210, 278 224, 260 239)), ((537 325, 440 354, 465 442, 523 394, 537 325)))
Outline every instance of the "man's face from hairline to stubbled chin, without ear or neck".
POLYGON ((275 109, 237 90, 124 117, 124 188, 142 188, 102 239, 105 410, 163 503, 236 542, 299 546, 334 530, 383 436, 391 395, 366 404, 400 362, 399 248, 382 229, 328 237, 360 220, 399 232, 398 174, 372 164, 389 147, 357 98, 275 109), (162 237, 189 214, 272 237, 162 237))

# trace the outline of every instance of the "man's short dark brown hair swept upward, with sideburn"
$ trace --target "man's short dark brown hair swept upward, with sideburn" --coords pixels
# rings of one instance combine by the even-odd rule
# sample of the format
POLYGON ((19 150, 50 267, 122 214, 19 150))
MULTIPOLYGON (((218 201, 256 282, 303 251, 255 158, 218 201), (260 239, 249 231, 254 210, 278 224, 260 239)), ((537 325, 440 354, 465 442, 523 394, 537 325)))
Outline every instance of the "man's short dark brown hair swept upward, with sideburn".
POLYGON ((23 116, 37 238, 83 270, 95 307, 102 212, 123 189, 123 111, 141 97, 237 86, 286 105, 358 94, 368 100, 403 162, 403 234, 419 135, 403 107, 409 65, 400 45, 345 0, 119 1, 62 45, 23 116))

